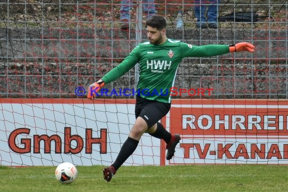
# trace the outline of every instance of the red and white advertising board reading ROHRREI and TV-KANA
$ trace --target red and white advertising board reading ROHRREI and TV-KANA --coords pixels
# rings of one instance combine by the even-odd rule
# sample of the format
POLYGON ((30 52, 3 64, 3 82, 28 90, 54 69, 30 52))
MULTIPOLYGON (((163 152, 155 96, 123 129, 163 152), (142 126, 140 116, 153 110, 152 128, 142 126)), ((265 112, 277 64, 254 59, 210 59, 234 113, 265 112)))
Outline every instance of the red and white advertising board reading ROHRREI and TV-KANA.
POLYGON ((162 164, 288 160, 286 100, 174 100, 162 122, 182 137, 173 160, 162 164))

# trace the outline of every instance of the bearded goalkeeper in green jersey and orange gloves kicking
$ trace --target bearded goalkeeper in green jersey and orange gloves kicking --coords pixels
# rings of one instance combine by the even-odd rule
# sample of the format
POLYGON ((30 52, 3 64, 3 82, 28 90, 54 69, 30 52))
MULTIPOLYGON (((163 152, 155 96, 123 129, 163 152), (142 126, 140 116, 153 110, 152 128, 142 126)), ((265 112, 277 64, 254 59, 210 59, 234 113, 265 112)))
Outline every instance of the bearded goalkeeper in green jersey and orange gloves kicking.
POLYGON ((211 57, 229 52, 254 52, 254 45, 240 42, 231 45, 210 44, 196 46, 172 40, 166 37, 166 20, 162 16, 155 16, 146 22, 148 41, 139 43, 131 53, 114 69, 109 71, 99 81, 90 85, 92 92, 87 98, 94 99, 95 93, 105 84, 110 83, 128 72, 139 63, 139 81, 137 85, 135 104, 135 123, 129 136, 123 143, 115 162, 103 170, 104 179, 110 181, 120 166, 135 151, 143 133, 163 139, 166 142, 166 159, 174 156, 175 147, 180 135, 171 135, 158 121, 164 117, 171 106, 170 87, 173 87, 179 63, 185 57, 211 57), (147 90, 141 94, 141 90, 147 90), (168 94, 155 94, 161 90, 168 90, 168 94), (149 90, 154 90, 149 92, 149 90))

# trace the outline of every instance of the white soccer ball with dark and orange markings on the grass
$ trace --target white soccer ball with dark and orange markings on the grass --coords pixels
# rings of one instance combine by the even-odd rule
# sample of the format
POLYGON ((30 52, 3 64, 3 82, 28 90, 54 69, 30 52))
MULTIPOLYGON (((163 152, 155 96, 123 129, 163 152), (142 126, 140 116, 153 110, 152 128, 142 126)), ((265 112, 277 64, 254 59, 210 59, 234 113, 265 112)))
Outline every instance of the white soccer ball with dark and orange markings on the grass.
POLYGON ((78 171, 72 163, 64 162, 57 166, 55 170, 56 179, 63 184, 72 183, 78 175, 78 171))

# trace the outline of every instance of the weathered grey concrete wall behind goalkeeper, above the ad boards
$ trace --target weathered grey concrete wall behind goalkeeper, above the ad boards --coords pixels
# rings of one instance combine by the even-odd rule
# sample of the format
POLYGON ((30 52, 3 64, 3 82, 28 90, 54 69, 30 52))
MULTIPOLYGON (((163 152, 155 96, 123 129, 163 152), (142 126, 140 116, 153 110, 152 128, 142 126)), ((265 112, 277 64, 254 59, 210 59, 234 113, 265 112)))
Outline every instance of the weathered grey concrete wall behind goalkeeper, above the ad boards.
MULTIPOLYGON (((14 30, 8 32, 12 39, 26 38, 24 29, 18 29, 17 33, 14 30)), ((179 67, 175 86, 213 88, 213 94, 207 98, 287 98, 287 41, 279 39, 279 37, 284 39, 286 30, 244 29, 241 33, 235 33, 237 36, 233 36, 230 29, 225 28, 219 31, 212 29, 201 34, 198 29, 186 29, 185 40, 182 41, 195 45, 200 43, 231 44, 233 43, 231 39, 251 42, 252 32, 254 36, 252 43, 256 46, 255 54, 225 54, 224 57, 206 59, 186 58, 179 67), (271 38, 267 41, 267 36, 275 37, 275 39, 271 38), (189 68, 189 74, 186 72, 186 67, 189 68), (215 70, 211 71, 211 68, 215 70)), ((133 41, 135 33, 129 33, 129 39, 127 39, 127 32, 120 31, 115 33, 117 37, 114 38, 109 29, 98 29, 95 32, 91 29, 76 31, 75 29, 49 28, 42 30, 42 36, 36 34, 38 34, 37 29, 30 30, 29 41, 25 43, 25 62, 22 60, 23 53, 20 51, 7 53, 19 60, 9 61, 8 59, 0 62, 0 69, 2 69, 0 75, 3 79, 0 82, 3 87, 1 97, 14 98, 28 95, 30 97, 76 97, 73 90, 77 86, 86 87, 91 81, 101 78, 106 71, 115 67, 122 60, 121 58, 125 58, 136 44, 133 41), (78 34, 85 34, 85 37, 78 34), (63 40, 59 40, 59 36, 63 40), (109 36, 111 39, 89 38, 94 36, 109 36), (94 59, 81 59, 81 56, 94 59), (111 59, 113 59, 112 64, 111 59), (9 80, 15 79, 13 78, 15 76, 19 80, 9 80), (55 80, 51 81, 48 77, 55 80), (75 84, 66 83, 71 80, 75 84), (28 82, 31 90, 27 87, 27 83, 21 83, 21 81, 28 82), (45 85, 49 87, 46 88, 45 85), (51 91, 46 89, 51 89, 51 91)), ((6 36, 7 30, 0 28, 0 35, 6 36)), ((175 33, 172 29, 168 29, 167 36, 180 40, 182 38, 182 34, 175 33)), ((146 38, 146 35, 142 34, 142 39, 146 38)), ((1 46, 4 47, 5 43, 7 42, 2 41, 1 46)), ((14 50, 23 49, 21 40, 10 43, 14 50)), ((106 87, 110 89, 132 88, 133 73, 131 69, 131 74, 124 76, 121 83, 115 82, 106 87)), ((183 94, 182 97, 185 98, 188 95, 183 94)))

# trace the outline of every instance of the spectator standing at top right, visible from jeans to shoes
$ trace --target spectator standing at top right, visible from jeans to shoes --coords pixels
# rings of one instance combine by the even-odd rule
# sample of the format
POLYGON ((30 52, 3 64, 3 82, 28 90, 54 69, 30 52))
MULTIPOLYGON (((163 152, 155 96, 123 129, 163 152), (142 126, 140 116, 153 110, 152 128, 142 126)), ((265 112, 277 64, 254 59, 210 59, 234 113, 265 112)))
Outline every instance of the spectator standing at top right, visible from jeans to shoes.
POLYGON ((197 28, 217 28, 217 17, 218 17, 218 1, 219 0, 196 0, 195 4, 199 6, 194 7, 195 17, 197 18, 197 28), (210 5, 203 5, 210 4, 210 5), (207 26, 208 23, 208 26, 207 26))

